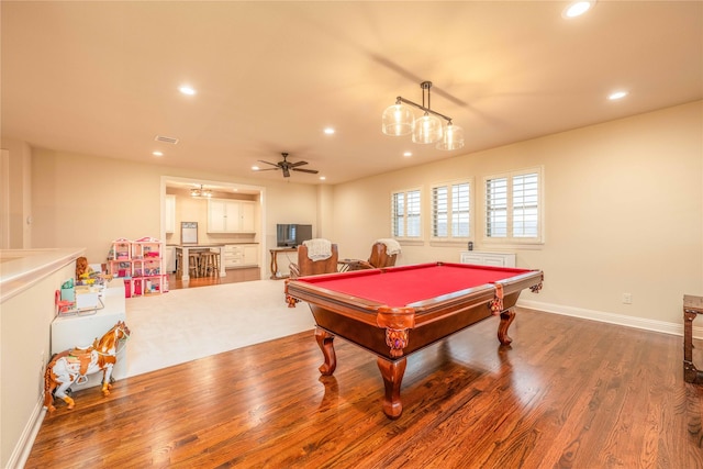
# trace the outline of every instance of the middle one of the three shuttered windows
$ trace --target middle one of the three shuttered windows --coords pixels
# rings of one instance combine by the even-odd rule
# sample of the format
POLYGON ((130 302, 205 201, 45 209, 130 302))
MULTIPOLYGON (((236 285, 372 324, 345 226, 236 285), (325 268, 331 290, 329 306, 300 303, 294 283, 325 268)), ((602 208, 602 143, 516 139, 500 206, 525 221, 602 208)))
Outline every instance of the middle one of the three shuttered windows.
POLYGON ((470 234, 470 186, 461 181, 432 188, 432 237, 466 239, 470 234))

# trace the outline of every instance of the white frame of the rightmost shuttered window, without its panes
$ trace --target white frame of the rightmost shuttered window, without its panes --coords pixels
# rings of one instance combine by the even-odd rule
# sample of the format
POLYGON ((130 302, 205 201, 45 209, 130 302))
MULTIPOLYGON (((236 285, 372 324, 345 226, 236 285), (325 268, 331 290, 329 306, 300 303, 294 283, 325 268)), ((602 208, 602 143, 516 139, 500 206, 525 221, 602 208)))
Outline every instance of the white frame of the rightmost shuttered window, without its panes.
MULTIPOLYGON (((520 196, 520 194, 518 194, 520 196)), ((534 201, 534 196, 528 198, 529 201, 534 201)), ((524 199, 523 199, 524 200, 524 199)), ((534 168, 526 168, 516 171, 509 171, 498 175, 490 175, 483 178, 483 242, 487 244, 501 244, 501 245, 542 245, 544 244, 544 168, 542 166, 534 168), (537 220, 535 222, 536 233, 534 236, 521 236, 515 233, 516 223, 515 215, 521 208, 515 206, 515 188, 513 187, 516 178, 521 178, 523 176, 536 175, 536 203, 529 203, 527 209, 533 209, 533 215, 536 215, 537 220), (492 226, 490 222, 489 214, 489 181, 505 179, 505 200, 503 203, 503 208, 505 210, 504 214, 504 236, 491 236, 489 235, 489 230, 492 226), (535 206, 536 204, 536 206, 535 206)), ((525 206, 523 205, 524 210, 525 206)))

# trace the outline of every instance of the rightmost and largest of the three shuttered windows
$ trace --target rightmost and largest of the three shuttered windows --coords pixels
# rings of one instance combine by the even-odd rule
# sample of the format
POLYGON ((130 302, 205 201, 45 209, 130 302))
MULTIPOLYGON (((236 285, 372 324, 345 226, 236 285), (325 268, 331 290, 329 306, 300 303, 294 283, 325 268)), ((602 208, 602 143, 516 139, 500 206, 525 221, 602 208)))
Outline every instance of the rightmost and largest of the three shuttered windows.
POLYGON ((486 179, 486 237, 542 242, 542 169, 486 179))

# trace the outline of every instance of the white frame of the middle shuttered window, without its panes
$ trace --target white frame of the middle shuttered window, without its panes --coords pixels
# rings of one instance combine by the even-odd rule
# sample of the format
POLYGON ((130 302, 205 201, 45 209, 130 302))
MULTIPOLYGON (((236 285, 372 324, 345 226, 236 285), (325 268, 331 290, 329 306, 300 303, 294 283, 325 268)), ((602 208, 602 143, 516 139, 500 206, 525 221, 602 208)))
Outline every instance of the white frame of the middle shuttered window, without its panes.
MULTIPOLYGON (((459 202, 461 203, 461 201, 459 202)), ((433 242, 461 242, 466 243, 471 239, 473 236, 473 183, 471 179, 460 179, 448 182, 434 183, 429 187, 429 238, 433 242), (457 206, 456 206, 456 197, 455 193, 456 188, 458 186, 467 186, 467 216, 468 220, 468 232, 466 235, 460 235, 455 233, 455 219, 457 216, 457 206), (439 236, 437 235, 437 201, 436 193, 437 190, 445 189, 447 194, 446 200, 446 235, 439 236)))

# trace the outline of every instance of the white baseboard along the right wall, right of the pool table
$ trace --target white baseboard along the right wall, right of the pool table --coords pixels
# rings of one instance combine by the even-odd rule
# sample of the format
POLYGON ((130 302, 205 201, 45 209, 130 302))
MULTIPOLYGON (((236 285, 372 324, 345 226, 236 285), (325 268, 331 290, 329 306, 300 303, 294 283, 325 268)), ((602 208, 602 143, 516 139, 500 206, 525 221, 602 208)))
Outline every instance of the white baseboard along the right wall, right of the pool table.
MULTIPOLYGON (((523 299, 517 300, 517 306, 528 310, 544 311, 545 313, 562 314, 565 316, 581 317, 583 320, 599 321, 601 323, 617 324, 621 326, 683 336, 683 310, 681 310, 681 323, 668 323, 665 321, 646 320, 644 317, 626 316, 623 314, 605 313, 602 311, 584 310, 582 308, 565 306, 562 304, 543 303, 539 301, 523 299)), ((703 339, 703 327, 694 325, 693 337, 703 339)))

